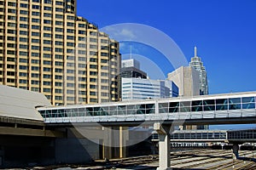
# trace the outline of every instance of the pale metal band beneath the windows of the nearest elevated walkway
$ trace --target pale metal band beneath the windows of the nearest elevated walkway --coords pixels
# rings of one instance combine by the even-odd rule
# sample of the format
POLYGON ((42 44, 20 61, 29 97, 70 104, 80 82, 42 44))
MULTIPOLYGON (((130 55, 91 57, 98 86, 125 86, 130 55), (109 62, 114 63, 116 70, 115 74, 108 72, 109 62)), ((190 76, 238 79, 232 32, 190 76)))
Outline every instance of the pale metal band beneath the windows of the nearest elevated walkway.
POLYGON ((163 114, 142 114, 142 115, 113 115, 113 116, 67 116, 67 117, 44 117, 46 123, 61 122, 145 122, 145 121, 175 121, 175 120, 200 120, 218 118, 239 118, 256 117, 256 110, 241 111, 201 111, 183 113, 163 113, 163 114))

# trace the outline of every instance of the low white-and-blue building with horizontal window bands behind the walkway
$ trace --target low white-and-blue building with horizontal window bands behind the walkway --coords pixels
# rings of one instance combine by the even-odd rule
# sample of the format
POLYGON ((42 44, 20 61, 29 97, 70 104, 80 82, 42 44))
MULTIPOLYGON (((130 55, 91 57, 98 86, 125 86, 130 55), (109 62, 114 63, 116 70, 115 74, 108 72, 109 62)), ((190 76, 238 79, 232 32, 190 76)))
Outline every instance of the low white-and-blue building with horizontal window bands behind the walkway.
POLYGON ((167 80, 122 78, 122 100, 158 99, 178 96, 177 85, 167 80))

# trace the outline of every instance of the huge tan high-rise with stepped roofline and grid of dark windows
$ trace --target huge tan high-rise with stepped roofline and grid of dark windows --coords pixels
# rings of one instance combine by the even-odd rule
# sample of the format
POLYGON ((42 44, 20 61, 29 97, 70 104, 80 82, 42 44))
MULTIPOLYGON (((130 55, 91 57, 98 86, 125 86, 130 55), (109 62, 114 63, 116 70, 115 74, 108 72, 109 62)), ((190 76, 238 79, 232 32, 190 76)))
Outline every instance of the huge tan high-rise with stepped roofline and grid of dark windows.
POLYGON ((53 105, 119 99, 119 42, 76 14, 75 0, 0 0, 0 83, 53 105))

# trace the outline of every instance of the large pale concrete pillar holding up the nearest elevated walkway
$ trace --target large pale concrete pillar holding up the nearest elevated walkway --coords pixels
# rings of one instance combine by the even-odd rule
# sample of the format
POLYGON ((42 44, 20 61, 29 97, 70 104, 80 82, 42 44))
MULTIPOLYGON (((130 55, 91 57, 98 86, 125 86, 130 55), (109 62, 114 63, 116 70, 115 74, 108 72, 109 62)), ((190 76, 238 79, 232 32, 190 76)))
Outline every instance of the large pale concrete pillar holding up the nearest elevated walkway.
POLYGON ((154 130, 159 134, 159 167, 157 170, 171 169, 170 130, 171 125, 154 123, 154 130))

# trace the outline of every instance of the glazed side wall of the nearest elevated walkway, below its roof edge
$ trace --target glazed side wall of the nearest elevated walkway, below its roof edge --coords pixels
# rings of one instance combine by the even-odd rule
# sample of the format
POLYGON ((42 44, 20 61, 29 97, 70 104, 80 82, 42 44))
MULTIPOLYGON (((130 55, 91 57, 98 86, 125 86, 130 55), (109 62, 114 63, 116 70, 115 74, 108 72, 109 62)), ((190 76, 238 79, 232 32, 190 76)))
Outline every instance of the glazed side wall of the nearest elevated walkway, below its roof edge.
MULTIPOLYGON (((252 94, 250 94, 252 95, 252 94)), ((255 94, 253 94, 255 95, 255 94)), ((223 99, 144 100, 133 103, 38 108, 45 122, 122 122, 255 116, 254 96, 223 99), (84 117, 83 119, 77 117, 84 117)))

